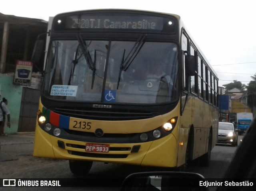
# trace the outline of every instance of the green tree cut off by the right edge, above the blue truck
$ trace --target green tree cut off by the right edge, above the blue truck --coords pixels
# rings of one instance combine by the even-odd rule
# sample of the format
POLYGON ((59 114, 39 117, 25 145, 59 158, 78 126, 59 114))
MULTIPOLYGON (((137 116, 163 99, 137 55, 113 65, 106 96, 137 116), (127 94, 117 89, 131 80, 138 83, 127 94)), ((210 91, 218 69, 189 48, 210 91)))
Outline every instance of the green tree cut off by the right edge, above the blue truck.
POLYGON ((253 81, 250 81, 248 83, 247 88, 247 105, 250 107, 252 111, 254 111, 254 108, 256 107, 256 74, 254 76, 251 76, 253 81))

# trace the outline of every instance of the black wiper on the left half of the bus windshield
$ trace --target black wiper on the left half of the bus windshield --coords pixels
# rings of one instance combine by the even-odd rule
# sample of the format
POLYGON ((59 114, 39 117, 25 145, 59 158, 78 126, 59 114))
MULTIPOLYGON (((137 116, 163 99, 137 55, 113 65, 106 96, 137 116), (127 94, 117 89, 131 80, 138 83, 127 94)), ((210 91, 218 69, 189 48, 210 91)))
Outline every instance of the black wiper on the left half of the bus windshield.
POLYGON ((82 49, 82 52, 83 52, 84 58, 86 60, 86 63, 88 65, 89 69, 92 70, 92 88, 93 88, 94 78, 95 78, 95 71, 96 71, 96 66, 95 66, 96 65, 96 51, 94 51, 94 61, 92 61, 92 57, 91 57, 91 55, 88 51, 87 44, 82 39, 80 34, 77 34, 77 39, 78 39, 79 45, 82 49))

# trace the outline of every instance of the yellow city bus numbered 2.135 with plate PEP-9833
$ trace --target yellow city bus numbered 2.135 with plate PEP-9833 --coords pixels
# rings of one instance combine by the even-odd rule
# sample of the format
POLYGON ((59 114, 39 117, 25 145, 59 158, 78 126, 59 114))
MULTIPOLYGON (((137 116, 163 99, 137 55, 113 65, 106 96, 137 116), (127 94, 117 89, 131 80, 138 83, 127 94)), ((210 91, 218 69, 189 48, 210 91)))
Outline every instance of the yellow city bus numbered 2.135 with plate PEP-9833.
POLYGON ((218 77, 180 16, 69 12, 53 18, 48 35, 35 157, 67 159, 74 174, 93 161, 208 165, 218 77))

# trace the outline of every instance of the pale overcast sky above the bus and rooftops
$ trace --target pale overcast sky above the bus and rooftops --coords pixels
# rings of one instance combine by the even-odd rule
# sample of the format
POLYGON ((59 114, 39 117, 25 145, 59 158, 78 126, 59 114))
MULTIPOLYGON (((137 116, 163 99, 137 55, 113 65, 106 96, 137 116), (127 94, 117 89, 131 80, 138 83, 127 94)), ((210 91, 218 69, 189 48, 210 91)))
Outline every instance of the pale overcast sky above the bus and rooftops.
POLYGON ((234 80, 248 85, 256 74, 254 0, 8 0, 0 13, 48 21, 62 12, 137 9, 181 16, 186 28, 217 72, 219 86, 234 80))

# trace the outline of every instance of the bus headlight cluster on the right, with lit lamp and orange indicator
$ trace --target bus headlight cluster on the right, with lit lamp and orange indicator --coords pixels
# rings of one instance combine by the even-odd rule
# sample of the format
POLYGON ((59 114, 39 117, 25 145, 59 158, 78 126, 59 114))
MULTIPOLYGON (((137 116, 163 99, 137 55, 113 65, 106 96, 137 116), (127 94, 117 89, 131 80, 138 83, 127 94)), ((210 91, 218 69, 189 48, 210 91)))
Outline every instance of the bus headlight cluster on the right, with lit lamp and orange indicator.
MULTIPOLYGON (((170 132, 171 130, 173 130, 174 126, 176 125, 176 121, 177 121, 177 118, 172 118, 172 119, 170 119, 170 120, 169 120, 168 122, 166 122, 163 126, 157 128, 157 129, 155 129, 155 130, 152 132, 152 136, 153 136, 154 138, 160 138, 163 133, 166 134, 166 132, 170 132), (162 131, 162 133, 161 133, 161 131, 162 131)), ((141 140, 142 142, 148 141, 148 137, 149 137, 148 134, 150 134, 150 132, 140 134, 140 140, 141 140)))

